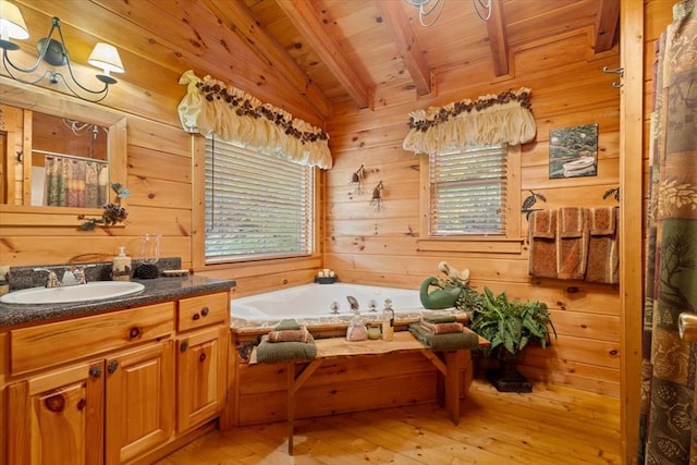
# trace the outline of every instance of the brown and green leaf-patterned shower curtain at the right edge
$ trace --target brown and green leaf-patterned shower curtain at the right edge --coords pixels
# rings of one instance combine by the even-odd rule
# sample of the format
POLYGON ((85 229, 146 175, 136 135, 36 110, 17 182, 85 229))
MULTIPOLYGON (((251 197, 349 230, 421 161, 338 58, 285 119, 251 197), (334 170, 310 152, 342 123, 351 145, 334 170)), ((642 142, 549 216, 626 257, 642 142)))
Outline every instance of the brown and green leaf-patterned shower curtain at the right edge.
POLYGON ((677 3, 657 42, 644 308, 639 463, 697 463, 697 0, 677 3))

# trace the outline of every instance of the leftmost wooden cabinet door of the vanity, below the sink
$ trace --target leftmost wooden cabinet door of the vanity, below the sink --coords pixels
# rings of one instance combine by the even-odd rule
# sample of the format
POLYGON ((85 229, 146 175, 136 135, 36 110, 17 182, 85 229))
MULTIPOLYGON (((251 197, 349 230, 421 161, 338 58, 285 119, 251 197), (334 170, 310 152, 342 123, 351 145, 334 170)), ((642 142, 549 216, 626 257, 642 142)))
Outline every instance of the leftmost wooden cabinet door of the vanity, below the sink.
POLYGON ((8 463, 103 463, 103 362, 8 387, 8 463))

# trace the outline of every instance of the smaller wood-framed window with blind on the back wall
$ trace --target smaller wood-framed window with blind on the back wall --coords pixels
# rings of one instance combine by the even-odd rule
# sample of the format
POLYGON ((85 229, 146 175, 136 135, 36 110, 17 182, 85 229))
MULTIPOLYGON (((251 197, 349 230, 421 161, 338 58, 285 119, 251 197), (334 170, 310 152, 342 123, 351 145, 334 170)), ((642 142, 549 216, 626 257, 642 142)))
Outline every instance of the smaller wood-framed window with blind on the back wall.
POLYGON ((421 157, 419 250, 519 253, 519 146, 421 157))

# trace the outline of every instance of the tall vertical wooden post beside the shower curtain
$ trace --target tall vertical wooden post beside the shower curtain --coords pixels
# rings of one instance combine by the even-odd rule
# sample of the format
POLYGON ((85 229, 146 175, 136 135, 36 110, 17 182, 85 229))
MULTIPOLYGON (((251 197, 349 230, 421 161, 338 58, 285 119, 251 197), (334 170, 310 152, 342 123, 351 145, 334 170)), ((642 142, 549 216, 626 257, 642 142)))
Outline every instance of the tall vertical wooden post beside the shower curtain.
MULTIPOLYGON (((607 3, 607 2, 606 2, 607 3)), ((622 463, 637 462, 641 407, 644 305, 644 2, 621 0, 620 48, 624 78, 620 91, 620 394, 622 463)))

